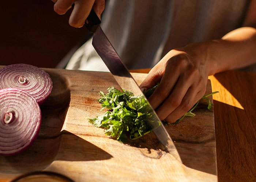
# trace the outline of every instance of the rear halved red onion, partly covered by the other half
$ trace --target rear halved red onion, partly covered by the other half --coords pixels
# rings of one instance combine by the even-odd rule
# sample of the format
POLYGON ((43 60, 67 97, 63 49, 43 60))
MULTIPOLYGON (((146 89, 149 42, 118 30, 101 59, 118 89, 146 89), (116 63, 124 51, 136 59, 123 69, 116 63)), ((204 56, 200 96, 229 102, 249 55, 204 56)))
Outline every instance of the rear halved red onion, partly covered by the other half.
POLYGON ((45 102, 52 91, 49 74, 29 64, 11 64, 0 70, 0 89, 19 88, 28 92, 38 102, 45 102))

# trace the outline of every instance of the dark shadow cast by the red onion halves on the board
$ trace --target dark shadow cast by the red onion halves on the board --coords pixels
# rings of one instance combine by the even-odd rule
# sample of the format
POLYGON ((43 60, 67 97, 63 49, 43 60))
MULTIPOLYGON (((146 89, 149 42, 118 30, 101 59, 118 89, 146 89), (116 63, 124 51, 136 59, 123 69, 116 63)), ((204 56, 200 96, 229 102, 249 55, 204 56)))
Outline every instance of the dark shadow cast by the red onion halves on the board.
POLYGON ((0 156, 0 175, 44 170, 54 160, 95 161, 112 157, 90 142, 68 131, 61 131, 69 107, 70 90, 61 75, 49 71, 48 73, 53 81, 53 90, 41 106, 39 135, 33 145, 23 153, 0 156))

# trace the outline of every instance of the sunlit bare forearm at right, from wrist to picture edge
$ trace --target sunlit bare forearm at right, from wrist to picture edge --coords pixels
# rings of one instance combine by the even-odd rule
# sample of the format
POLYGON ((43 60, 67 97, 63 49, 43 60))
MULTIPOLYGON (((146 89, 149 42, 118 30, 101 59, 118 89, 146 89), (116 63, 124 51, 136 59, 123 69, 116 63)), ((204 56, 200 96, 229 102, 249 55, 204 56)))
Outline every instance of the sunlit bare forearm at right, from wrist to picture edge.
POLYGON ((256 29, 242 27, 227 33, 222 39, 189 44, 195 59, 205 59, 208 75, 237 69, 256 62, 256 29))

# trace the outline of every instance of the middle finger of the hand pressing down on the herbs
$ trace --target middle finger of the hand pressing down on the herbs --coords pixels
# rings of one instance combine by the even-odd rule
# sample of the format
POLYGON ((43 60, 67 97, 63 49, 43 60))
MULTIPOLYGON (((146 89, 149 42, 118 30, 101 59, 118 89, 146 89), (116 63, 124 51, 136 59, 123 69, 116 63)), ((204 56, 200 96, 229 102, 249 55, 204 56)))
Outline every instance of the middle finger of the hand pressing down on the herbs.
POLYGON ((191 83, 185 80, 185 77, 180 77, 177 84, 174 86, 172 93, 165 99, 161 106, 156 110, 161 120, 165 119, 178 106, 187 93, 191 83))

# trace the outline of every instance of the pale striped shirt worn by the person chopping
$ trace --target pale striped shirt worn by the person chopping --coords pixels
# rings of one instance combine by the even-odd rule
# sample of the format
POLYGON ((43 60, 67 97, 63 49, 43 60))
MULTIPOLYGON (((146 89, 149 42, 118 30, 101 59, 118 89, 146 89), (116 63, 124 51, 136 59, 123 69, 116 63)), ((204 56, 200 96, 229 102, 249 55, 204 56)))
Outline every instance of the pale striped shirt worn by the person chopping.
MULTIPOLYGON (((241 27, 249 0, 109 0, 102 29, 128 69, 152 68, 167 52, 241 27)), ((87 41, 67 69, 108 71, 87 41)))

